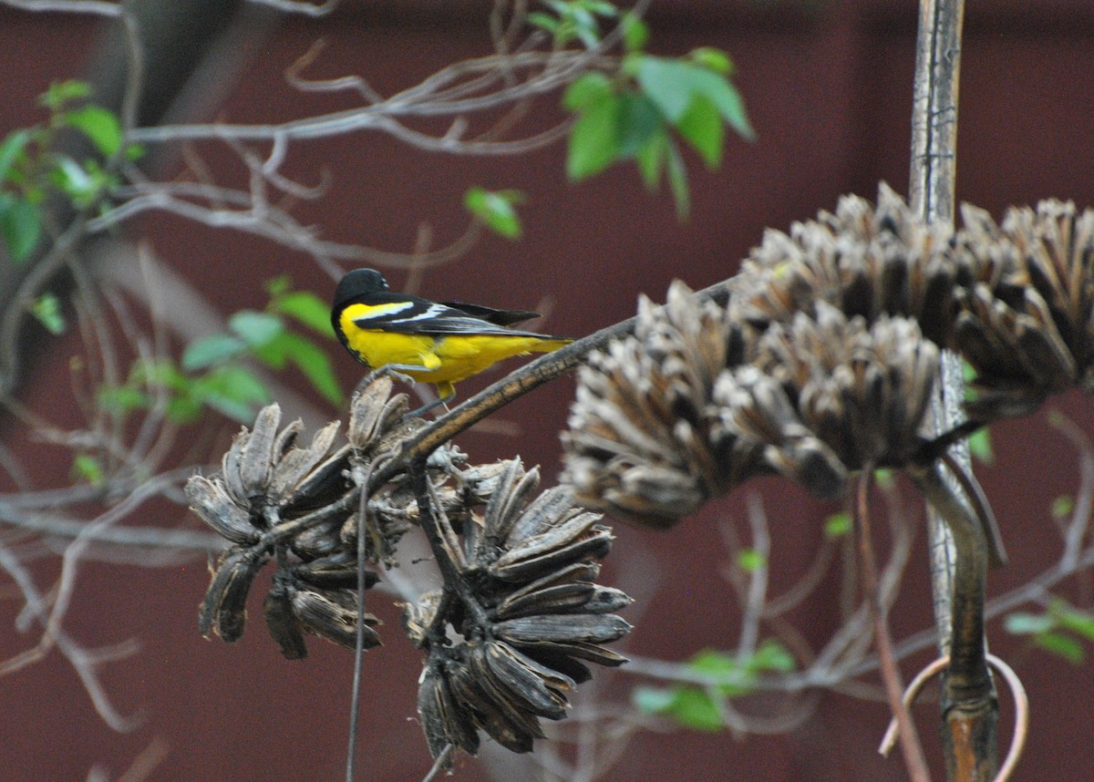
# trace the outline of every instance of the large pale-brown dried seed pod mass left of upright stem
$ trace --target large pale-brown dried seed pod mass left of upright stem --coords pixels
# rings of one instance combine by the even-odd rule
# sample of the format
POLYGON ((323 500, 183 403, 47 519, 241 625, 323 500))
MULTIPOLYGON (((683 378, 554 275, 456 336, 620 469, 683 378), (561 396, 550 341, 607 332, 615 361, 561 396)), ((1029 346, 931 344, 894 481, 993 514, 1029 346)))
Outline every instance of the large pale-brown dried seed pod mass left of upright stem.
POLYGON ((728 307, 674 283, 635 337, 580 374, 565 479, 591 507, 653 526, 778 471, 831 498, 866 464, 916 455, 958 289, 952 231, 881 187, 769 231, 728 307))

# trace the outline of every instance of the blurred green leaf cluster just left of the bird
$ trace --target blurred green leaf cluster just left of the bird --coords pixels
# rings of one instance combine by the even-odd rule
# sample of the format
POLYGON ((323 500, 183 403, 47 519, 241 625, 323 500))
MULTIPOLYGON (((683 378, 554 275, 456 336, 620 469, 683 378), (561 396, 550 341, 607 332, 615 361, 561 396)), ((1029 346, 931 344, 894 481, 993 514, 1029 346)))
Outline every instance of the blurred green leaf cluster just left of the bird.
POLYGON ((165 393, 167 417, 179 423, 197 420, 206 408, 249 423, 255 408, 270 400, 266 384, 241 359, 254 359, 274 370, 290 364, 331 405, 342 390, 327 352, 314 340, 291 330, 290 319, 326 338, 334 338, 329 308, 310 291, 294 291, 286 277, 267 283, 265 311, 241 310, 229 320, 229 334, 197 339, 178 364, 171 360, 138 361, 126 383, 100 389, 98 400, 115 412, 149 409, 155 393, 165 393))

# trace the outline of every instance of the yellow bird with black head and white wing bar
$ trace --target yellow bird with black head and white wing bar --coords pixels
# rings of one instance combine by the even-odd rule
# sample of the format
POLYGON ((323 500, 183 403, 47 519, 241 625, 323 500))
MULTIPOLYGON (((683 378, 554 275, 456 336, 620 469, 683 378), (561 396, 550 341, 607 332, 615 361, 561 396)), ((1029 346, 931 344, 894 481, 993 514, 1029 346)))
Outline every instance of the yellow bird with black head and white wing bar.
POLYGON ((379 271, 354 269, 335 289, 330 325, 365 366, 434 384, 441 398, 416 411, 423 412, 452 399, 453 384, 503 359, 548 353, 573 341, 507 328, 534 317, 539 314, 395 293, 379 271))

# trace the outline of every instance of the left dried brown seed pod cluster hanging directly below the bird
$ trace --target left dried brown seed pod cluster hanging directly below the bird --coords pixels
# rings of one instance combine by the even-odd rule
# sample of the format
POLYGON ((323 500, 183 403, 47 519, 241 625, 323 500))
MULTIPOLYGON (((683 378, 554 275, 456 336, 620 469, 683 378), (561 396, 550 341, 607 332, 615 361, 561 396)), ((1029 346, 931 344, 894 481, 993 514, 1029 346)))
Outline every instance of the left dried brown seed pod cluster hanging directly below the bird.
MULTIPOLYGON (((279 429, 281 410, 264 408, 224 454, 221 471, 193 476, 186 485, 190 507, 233 545, 218 558, 198 615, 201 633, 237 640, 244 631, 251 585, 277 559, 265 607, 270 634, 282 653, 303 657, 303 633, 352 646, 358 611, 356 557, 358 481, 368 464, 414 431, 403 421, 406 397, 391 396, 381 378, 353 400, 350 443, 335 448, 338 424, 321 429, 307 446, 296 444, 303 424, 279 429)), ((451 452, 439 459, 458 460, 451 452)), ((442 468, 443 469, 443 468, 442 468)), ((373 559, 389 551, 409 526, 412 495, 398 481, 373 498, 370 547, 373 559)), ((376 581, 366 573, 366 586, 376 581)), ((364 641, 380 643, 365 615, 364 641)))

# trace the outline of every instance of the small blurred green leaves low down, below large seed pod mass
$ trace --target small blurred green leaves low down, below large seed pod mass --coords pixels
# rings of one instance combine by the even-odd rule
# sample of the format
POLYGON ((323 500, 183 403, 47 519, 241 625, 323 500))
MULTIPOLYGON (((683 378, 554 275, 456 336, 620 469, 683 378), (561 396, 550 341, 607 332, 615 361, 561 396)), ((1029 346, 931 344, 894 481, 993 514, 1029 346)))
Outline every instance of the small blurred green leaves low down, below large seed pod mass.
POLYGON ((636 687, 632 693, 635 705, 647 714, 671 717, 684 727, 713 732, 725 726, 722 709, 726 699, 752 692, 764 673, 793 670, 794 657, 781 643, 768 639, 744 661, 734 654, 708 649, 691 657, 687 668, 724 684, 709 687, 689 684, 636 687))

